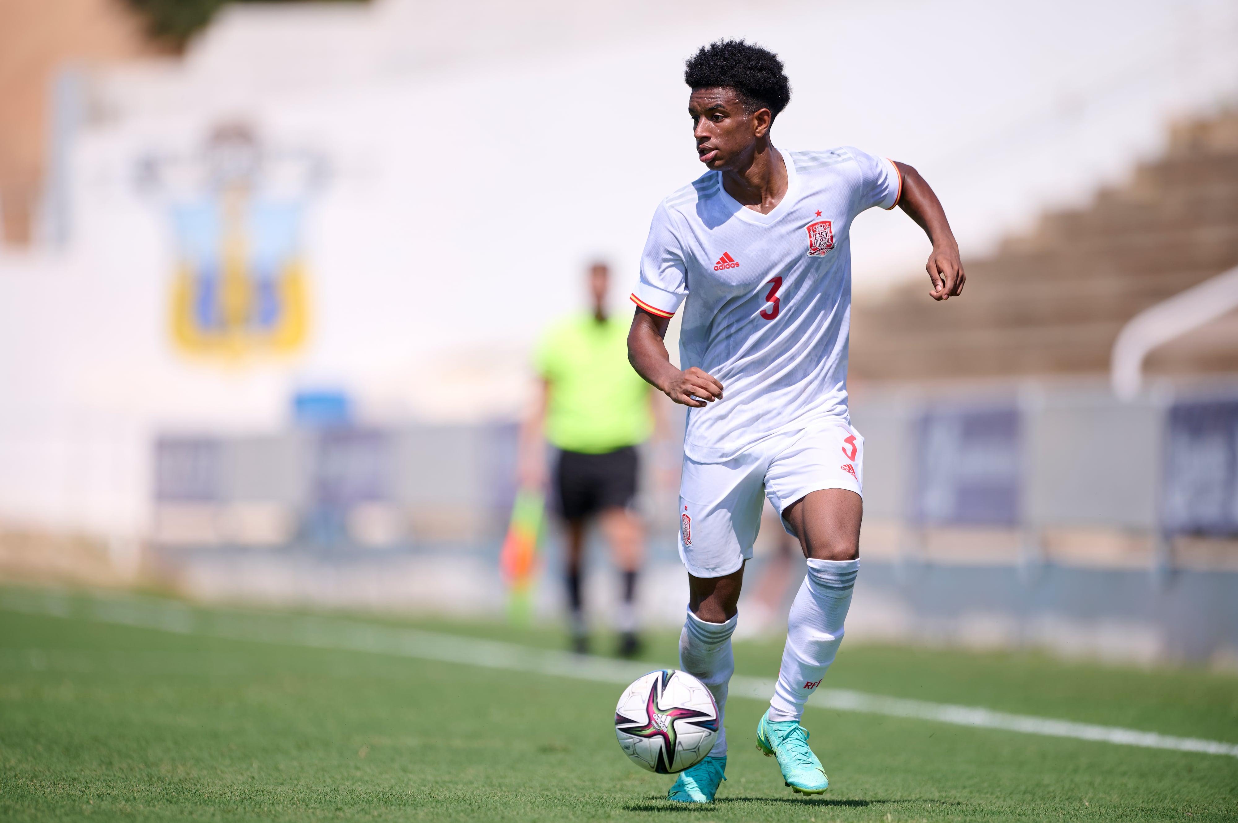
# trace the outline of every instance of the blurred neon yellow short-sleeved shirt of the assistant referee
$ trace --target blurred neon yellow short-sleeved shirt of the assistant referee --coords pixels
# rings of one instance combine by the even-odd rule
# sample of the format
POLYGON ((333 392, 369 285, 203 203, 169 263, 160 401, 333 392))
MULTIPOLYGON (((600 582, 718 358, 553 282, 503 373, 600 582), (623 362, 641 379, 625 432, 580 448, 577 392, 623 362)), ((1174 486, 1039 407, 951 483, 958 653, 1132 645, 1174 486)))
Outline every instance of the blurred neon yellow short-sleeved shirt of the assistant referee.
POLYGON ((536 368, 550 384, 546 439, 556 448, 602 454, 649 437, 650 389, 628 363, 626 323, 566 318, 542 335, 536 368))

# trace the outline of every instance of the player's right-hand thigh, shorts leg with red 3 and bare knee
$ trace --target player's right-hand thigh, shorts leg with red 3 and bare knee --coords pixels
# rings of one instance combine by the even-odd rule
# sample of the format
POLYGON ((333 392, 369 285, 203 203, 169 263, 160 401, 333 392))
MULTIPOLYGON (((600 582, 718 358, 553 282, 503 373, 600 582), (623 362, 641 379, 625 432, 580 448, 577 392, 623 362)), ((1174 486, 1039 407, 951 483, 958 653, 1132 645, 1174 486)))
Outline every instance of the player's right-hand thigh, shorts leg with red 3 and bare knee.
POLYGON ((770 502, 806 557, 857 556, 863 468, 864 438, 844 421, 817 424, 770 462, 770 502))

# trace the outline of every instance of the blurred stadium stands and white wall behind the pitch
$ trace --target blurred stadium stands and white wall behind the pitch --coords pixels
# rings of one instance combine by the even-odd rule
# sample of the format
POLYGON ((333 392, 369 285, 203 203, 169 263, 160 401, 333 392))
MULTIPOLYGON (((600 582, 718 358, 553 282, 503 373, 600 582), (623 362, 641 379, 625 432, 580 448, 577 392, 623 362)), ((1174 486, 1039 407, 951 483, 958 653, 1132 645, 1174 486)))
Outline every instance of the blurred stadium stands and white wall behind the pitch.
POLYGON ((4 579, 499 614, 531 343, 598 255, 626 312, 698 173, 682 59, 742 33, 794 80, 779 145, 914 163, 971 275, 935 306, 909 220, 854 229, 849 635, 1238 665, 1228 281, 1110 385, 1130 321, 1238 265, 1232 4, 160 5, 0 5, 4 579), (210 266, 275 295, 260 332, 210 266))

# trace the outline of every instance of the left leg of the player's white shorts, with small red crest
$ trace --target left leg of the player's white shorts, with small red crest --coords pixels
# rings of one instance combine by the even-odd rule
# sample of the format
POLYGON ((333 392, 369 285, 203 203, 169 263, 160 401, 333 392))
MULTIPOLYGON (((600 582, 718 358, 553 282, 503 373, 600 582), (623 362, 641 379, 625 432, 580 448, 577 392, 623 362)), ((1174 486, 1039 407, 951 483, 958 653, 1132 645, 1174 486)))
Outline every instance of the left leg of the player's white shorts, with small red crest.
POLYGON ((688 574, 725 577, 753 556, 760 528, 764 465, 742 455, 725 463, 685 458, 680 481, 680 557, 688 574))

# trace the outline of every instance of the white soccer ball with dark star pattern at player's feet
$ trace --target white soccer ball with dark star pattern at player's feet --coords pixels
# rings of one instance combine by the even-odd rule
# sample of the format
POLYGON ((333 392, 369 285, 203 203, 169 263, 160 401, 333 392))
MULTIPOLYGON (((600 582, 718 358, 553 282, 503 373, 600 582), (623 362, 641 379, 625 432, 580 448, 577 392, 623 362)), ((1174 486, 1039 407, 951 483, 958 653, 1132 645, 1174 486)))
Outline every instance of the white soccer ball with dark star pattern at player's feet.
POLYGON ((641 769, 673 775, 701 762, 713 749, 718 704, 704 683, 687 672, 650 672, 619 696, 615 736, 641 769))

